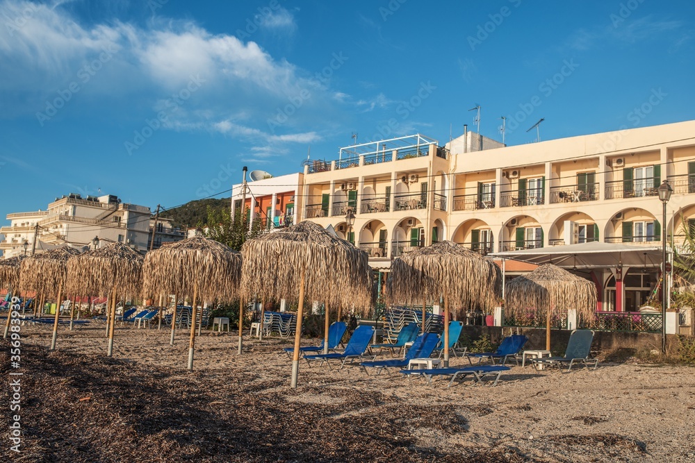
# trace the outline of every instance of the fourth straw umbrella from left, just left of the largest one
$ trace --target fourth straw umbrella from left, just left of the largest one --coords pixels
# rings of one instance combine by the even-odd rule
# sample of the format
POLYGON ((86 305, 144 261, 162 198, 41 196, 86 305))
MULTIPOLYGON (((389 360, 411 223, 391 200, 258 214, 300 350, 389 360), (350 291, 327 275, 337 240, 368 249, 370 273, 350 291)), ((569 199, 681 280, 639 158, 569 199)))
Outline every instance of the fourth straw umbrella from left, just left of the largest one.
MULTIPOLYGON (((229 246, 204 237, 183 239, 149 251, 142 267, 143 296, 193 294, 188 369, 193 369, 197 302, 231 301, 238 291, 241 255, 229 246)), ((172 319, 174 330, 175 319, 172 319)))

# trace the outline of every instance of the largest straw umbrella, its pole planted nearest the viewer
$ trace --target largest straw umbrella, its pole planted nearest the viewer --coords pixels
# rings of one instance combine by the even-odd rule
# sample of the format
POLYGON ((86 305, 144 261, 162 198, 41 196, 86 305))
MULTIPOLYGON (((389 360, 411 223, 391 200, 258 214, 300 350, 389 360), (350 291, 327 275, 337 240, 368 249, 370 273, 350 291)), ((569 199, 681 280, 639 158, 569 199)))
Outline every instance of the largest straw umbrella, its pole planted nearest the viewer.
POLYGON ((250 239, 241 253, 243 297, 299 303, 291 380, 297 387, 304 298, 366 312, 373 286, 368 256, 311 221, 250 239))

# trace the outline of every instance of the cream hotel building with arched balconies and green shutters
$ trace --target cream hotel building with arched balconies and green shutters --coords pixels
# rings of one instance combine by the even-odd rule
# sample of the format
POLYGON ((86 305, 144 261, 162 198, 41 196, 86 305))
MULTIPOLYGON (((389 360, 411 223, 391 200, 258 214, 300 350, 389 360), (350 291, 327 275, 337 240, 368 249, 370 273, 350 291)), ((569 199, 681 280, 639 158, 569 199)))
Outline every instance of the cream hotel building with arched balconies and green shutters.
MULTIPOLYGON (((694 229, 695 121, 518 146, 472 132, 447 144, 423 135, 356 144, 309 162, 302 187, 298 219, 333 226, 379 269, 443 239, 483 254, 591 241, 661 246, 662 227, 676 240, 694 229), (667 224, 663 180, 673 188, 667 224)), ((603 310, 630 311, 659 275, 603 269, 591 278, 603 310)))

